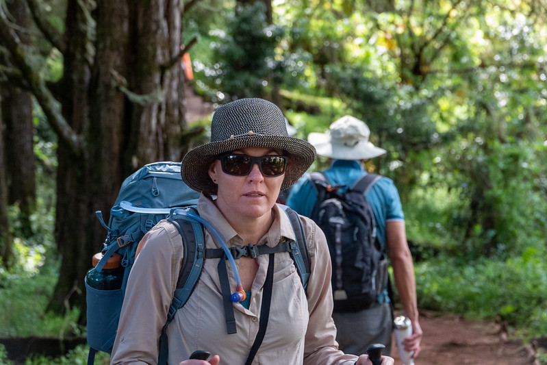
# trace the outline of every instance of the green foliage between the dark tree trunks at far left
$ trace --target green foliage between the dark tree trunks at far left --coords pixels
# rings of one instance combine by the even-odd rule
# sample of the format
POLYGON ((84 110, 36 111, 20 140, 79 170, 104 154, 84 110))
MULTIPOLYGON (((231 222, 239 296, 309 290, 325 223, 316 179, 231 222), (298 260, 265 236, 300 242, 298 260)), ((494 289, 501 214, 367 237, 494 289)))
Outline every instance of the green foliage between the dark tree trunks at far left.
MULTIPOLYGON (((44 125, 40 110, 35 109, 35 153, 37 171, 36 212, 30 221, 33 235, 14 238, 15 264, 11 270, 0 268, 0 336, 53 336, 62 338, 81 334, 75 323, 79 310, 64 317, 46 314, 45 308, 58 278, 53 228, 55 227, 55 142, 44 125)), ((10 223, 18 232, 16 207, 10 223)))

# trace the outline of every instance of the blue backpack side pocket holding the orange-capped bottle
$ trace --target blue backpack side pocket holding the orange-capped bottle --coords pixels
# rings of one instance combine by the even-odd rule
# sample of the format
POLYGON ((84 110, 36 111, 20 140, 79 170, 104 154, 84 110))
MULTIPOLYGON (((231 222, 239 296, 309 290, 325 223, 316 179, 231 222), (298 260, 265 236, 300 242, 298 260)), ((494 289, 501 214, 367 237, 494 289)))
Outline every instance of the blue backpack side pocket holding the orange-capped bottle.
POLYGON ((92 349, 110 353, 116 338, 123 290, 99 290, 86 279, 88 344, 92 349))

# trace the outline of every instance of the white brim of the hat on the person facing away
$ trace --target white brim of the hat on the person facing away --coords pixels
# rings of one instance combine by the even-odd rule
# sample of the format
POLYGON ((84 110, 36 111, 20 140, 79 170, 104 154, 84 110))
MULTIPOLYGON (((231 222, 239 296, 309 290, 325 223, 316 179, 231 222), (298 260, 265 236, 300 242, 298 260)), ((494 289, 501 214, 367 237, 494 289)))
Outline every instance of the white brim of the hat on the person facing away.
POLYGON ((359 142, 355 146, 333 144, 330 134, 312 132, 307 140, 312 144, 318 155, 335 160, 368 160, 386 153, 385 149, 374 146, 371 142, 359 142))

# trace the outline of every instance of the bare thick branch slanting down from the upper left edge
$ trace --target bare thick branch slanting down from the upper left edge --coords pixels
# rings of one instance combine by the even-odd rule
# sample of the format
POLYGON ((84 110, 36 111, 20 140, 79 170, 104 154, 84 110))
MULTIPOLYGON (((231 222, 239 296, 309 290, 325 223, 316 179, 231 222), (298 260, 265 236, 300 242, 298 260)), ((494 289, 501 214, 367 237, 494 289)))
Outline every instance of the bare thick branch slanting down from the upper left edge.
POLYGON ((3 9, 0 7, 0 39, 2 39, 5 48, 10 53, 11 61, 20 71, 29 91, 32 92, 36 101, 40 104, 49 125, 55 133, 66 142, 71 151, 77 155, 84 153, 84 140, 78 136, 61 114, 59 103, 44 84, 44 80, 31 64, 27 62, 29 55, 21 47, 21 40, 11 29, 10 22, 3 9))

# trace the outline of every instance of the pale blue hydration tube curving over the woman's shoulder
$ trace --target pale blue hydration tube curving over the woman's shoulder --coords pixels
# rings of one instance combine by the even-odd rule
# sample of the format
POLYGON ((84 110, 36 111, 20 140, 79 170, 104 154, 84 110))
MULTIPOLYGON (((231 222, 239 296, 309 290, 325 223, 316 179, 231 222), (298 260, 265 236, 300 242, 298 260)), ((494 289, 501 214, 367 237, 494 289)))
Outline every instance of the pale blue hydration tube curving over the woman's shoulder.
POLYGON ((228 261, 230 263, 230 266, 233 270, 233 276, 236 279, 236 292, 231 294, 230 299, 234 303, 244 301, 246 294, 243 290, 243 285, 241 284, 240 279, 240 273, 238 271, 238 266, 236 266, 236 260, 233 260, 233 255, 231 254, 226 242, 222 239, 218 231, 211 225, 211 223, 205 221, 205 219, 201 218, 201 216, 194 214, 192 212, 189 212, 186 209, 183 208, 146 208, 146 207, 138 207, 134 205, 133 203, 130 203, 129 201, 120 201, 120 207, 123 209, 133 212, 133 213, 144 213, 144 214, 180 214, 182 216, 187 216, 189 218, 194 219, 194 221, 198 221, 199 223, 203 224, 205 228, 209 230, 213 234, 213 236, 220 242, 220 246, 222 246, 222 250, 224 250, 226 256, 228 257, 228 261))

